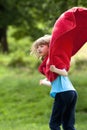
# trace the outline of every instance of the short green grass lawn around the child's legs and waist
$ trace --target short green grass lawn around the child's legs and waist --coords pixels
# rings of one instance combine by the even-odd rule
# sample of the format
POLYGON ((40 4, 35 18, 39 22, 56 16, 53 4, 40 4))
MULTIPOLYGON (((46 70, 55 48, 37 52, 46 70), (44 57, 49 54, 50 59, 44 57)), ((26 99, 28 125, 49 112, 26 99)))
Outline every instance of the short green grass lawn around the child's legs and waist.
MULTIPOLYGON (((87 128, 87 73, 74 72, 70 79, 78 91, 76 128, 87 128), (77 74, 77 76, 76 76, 77 74)), ((0 130, 49 130, 53 99, 50 88, 39 86, 43 78, 26 68, 0 70, 0 130)))

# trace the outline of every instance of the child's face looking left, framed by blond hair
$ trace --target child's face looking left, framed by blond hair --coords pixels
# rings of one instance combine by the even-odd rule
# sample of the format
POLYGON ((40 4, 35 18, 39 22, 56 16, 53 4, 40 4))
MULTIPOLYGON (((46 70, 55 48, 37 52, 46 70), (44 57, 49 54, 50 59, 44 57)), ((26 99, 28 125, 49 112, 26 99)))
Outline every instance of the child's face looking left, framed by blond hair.
POLYGON ((38 45, 37 53, 40 57, 45 57, 48 54, 49 47, 48 45, 38 45))

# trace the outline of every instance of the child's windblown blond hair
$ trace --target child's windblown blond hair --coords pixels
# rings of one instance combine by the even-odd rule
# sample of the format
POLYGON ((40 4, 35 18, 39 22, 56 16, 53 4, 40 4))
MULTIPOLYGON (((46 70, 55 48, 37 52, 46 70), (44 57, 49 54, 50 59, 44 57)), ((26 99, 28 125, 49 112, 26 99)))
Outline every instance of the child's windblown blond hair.
POLYGON ((51 40, 51 35, 44 35, 43 37, 38 38, 32 45, 31 47, 31 53, 30 54, 34 54, 35 56, 37 56, 39 58, 39 55, 37 53, 37 47, 39 45, 48 45, 50 43, 51 40))

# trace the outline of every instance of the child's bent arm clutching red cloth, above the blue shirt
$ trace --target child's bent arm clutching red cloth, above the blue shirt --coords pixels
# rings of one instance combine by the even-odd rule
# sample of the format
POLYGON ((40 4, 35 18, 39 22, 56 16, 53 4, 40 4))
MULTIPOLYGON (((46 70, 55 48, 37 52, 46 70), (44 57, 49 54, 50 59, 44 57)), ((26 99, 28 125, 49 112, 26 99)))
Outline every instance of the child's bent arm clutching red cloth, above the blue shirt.
POLYGON ((55 67, 55 65, 51 65, 50 66, 50 71, 56 73, 56 74, 59 74, 59 75, 63 75, 63 76, 67 76, 68 73, 65 69, 58 69, 55 67))

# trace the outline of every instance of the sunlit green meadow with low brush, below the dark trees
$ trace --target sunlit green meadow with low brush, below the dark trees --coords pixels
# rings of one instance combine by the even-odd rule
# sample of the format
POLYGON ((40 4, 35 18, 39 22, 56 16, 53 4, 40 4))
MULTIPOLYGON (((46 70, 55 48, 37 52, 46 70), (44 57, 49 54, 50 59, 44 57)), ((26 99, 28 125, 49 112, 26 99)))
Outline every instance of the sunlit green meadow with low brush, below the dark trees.
MULTIPOLYGON (((12 31, 12 29, 10 30, 12 31)), ((35 69, 37 59, 29 55, 29 38, 15 40, 8 33, 9 54, 0 54, 0 130, 49 130, 53 99, 50 87, 35 69), (32 74, 33 73, 33 74, 32 74)), ((10 34, 11 33, 11 34, 10 34)), ((69 77, 78 91, 77 130, 87 129, 87 44, 72 58, 69 77), (77 62, 78 60, 83 62, 77 62)))

